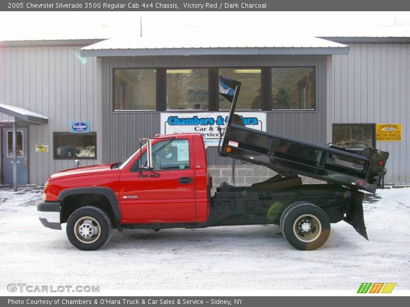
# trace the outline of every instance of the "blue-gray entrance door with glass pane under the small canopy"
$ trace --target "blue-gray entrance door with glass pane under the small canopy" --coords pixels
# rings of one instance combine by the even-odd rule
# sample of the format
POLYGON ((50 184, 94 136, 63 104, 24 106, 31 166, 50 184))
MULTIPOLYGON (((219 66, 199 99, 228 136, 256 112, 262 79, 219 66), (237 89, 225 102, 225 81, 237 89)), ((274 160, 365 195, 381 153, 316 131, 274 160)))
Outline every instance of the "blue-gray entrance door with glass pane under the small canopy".
MULTIPOLYGON (((28 184, 28 132, 17 127, 17 184, 28 184)), ((13 184, 13 131, 2 129, 3 183, 13 184)))

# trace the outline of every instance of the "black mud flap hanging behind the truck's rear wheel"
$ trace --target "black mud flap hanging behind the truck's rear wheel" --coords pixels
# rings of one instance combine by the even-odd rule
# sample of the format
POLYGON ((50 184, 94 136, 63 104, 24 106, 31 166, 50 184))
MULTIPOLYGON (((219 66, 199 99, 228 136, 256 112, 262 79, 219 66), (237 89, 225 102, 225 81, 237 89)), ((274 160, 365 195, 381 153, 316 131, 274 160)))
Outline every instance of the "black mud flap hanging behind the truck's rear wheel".
POLYGON ((347 206, 346 217, 343 220, 352 225, 362 237, 368 240, 363 218, 363 196, 362 192, 352 191, 351 202, 347 206))

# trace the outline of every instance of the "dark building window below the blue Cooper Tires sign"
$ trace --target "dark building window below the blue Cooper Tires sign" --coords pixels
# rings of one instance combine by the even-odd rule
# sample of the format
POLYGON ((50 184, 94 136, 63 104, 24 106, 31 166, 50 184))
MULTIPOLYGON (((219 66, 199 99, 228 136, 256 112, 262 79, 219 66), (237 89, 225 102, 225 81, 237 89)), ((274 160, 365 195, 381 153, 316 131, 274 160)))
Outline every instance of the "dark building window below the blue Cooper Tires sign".
POLYGON ((96 133, 53 133, 54 159, 96 159, 96 133))

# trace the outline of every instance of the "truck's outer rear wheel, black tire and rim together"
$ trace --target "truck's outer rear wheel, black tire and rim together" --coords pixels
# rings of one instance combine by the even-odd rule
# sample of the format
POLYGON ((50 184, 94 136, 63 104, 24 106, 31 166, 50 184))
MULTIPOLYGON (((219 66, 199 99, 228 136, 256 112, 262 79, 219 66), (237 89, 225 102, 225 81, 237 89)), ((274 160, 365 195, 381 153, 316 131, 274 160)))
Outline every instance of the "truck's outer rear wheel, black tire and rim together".
POLYGON ((303 202, 286 211, 281 230, 294 248, 312 251, 326 242, 330 234, 330 221, 326 212, 318 206, 303 202))

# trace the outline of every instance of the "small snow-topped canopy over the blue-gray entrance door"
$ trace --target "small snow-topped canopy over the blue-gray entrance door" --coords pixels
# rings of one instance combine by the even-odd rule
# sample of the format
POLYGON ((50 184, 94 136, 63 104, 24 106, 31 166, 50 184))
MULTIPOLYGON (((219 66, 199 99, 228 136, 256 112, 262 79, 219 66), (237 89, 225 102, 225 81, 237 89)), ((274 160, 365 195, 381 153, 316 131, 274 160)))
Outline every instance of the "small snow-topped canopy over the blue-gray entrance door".
POLYGON ((17 122, 20 125, 29 126, 48 123, 48 118, 43 115, 31 112, 21 107, 3 103, 0 103, 0 115, 2 115, 0 117, 0 124, 17 122), (6 117, 3 117, 3 115, 6 115, 6 117))

